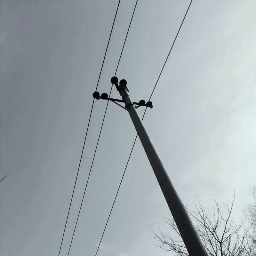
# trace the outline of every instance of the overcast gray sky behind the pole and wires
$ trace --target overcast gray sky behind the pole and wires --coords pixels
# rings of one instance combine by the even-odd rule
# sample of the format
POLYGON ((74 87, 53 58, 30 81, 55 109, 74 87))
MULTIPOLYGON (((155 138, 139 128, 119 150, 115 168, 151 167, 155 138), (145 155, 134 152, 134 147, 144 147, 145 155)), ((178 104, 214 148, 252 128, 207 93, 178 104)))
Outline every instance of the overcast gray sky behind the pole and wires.
MULTIPOLYGON (((1 1, 0 254, 58 255, 115 1, 1 1)), ((122 1, 98 91, 110 90, 134 1, 122 1)), ((147 100, 189 1, 139 0, 117 76, 147 100)), ((255 184, 256 3, 194 0, 144 124, 184 204, 255 184)), ((118 97, 114 90, 113 97, 118 97)), ((61 255, 67 255, 106 102, 95 102, 61 255)), ((140 109, 140 114, 142 109, 140 109)), ((136 132, 109 104, 71 256, 94 255, 136 132)), ((99 256, 166 255, 149 225, 170 213, 137 141, 99 256)))

